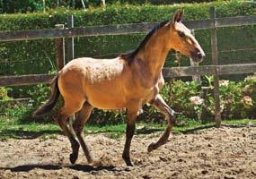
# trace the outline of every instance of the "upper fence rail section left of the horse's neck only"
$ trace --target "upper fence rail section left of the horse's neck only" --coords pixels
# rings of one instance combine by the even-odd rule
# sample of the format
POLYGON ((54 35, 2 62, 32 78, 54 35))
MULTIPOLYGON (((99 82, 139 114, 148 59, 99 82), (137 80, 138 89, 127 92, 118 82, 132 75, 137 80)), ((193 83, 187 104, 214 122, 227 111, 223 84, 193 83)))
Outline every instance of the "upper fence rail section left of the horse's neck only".
POLYGON ((157 23, 138 23, 107 26, 87 26, 72 29, 16 30, 0 32, 0 41, 16 41, 40 38, 72 38, 105 35, 125 35, 150 30, 157 23))

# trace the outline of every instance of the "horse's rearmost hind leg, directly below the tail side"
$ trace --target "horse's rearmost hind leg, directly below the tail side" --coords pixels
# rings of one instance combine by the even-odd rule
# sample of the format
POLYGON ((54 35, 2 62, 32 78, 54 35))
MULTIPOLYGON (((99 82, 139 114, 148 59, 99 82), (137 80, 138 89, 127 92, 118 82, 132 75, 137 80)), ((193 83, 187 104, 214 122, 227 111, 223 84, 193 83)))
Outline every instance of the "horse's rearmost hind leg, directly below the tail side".
POLYGON ((71 143, 72 153, 70 154, 69 159, 72 164, 75 164, 75 161, 78 158, 79 142, 75 140, 74 133, 70 131, 66 123, 68 117, 79 111, 83 103, 84 101, 67 100, 65 98, 65 106, 60 109, 60 116, 57 118, 57 123, 63 132, 65 132, 68 140, 71 143))

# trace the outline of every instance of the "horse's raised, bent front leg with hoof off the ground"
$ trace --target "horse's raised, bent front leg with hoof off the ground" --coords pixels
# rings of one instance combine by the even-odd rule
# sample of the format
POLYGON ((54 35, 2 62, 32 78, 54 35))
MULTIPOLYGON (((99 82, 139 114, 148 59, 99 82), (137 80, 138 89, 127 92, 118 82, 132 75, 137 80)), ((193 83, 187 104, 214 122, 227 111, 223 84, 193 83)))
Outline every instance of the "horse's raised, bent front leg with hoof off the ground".
POLYGON ((161 138, 158 141, 153 142, 148 146, 147 148, 148 152, 151 152, 152 150, 159 148, 160 146, 162 146, 164 143, 168 141, 170 132, 172 131, 172 124, 175 121, 175 112, 172 110, 171 107, 169 107, 165 103, 165 101, 163 100, 160 94, 156 95, 156 97, 150 101, 150 104, 153 107, 157 108, 166 116, 166 119, 168 120, 168 126, 163 132, 163 135, 161 136, 161 138))

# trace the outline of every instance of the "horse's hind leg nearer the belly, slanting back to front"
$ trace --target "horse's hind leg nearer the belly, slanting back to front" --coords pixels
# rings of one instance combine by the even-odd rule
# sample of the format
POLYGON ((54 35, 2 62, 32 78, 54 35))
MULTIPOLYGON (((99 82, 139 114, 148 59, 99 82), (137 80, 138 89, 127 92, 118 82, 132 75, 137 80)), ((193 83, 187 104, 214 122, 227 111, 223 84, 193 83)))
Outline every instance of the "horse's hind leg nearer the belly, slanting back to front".
POLYGON ((72 124, 75 134, 80 142, 82 149, 84 150, 84 155, 87 158, 89 163, 93 162, 93 158, 91 153, 84 141, 84 124, 89 119, 91 113, 93 111, 93 107, 85 102, 83 108, 75 115, 75 122, 72 124))

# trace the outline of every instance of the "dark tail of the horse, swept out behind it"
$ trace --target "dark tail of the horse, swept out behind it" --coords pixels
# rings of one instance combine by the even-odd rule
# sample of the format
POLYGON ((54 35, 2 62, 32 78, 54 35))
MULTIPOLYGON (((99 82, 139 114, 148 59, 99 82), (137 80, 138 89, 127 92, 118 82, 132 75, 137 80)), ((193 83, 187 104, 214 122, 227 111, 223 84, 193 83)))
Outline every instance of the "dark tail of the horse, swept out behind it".
POLYGON ((58 75, 54 77, 52 80, 52 93, 46 104, 41 106, 38 110, 36 110, 33 114, 34 117, 38 117, 41 115, 46 115, 57 103, 57 98, 59 97, 59 89, 57 86, 58 75))

